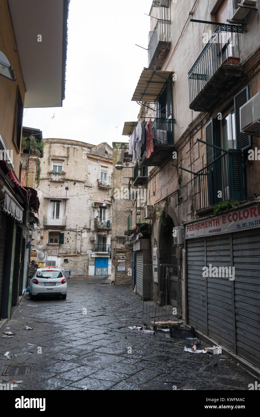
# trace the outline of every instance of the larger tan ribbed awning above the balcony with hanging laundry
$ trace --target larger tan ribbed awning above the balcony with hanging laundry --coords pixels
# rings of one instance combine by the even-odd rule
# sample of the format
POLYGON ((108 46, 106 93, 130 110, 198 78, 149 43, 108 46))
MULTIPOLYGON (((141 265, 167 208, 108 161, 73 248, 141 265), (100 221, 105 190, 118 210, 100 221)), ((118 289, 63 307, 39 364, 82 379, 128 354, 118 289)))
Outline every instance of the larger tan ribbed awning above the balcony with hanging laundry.
POLYGON ((172 75, 172 71, 143 70, 132 101, 155 103, 161 96, 168 80, 172 81, 172 75))

